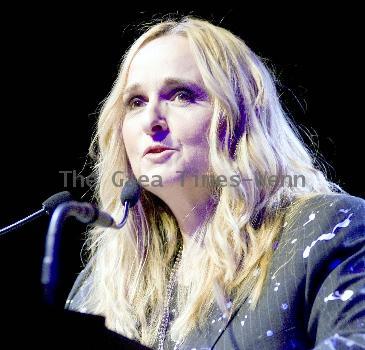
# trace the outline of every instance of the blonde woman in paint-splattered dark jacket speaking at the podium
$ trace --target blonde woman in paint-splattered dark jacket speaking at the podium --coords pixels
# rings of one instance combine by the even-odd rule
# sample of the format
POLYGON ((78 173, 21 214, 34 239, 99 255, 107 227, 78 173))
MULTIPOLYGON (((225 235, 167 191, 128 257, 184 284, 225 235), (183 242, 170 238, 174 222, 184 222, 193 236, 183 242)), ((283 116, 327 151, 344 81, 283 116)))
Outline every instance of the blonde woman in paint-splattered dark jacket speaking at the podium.
POLYGON ((316 168, 240 38, 151 26, 93 146, 103 210, 121 216, 117 172, 142 194, 120 232, 90 231, 68 308, 156 349, 365 347, 364 201, 316 168))

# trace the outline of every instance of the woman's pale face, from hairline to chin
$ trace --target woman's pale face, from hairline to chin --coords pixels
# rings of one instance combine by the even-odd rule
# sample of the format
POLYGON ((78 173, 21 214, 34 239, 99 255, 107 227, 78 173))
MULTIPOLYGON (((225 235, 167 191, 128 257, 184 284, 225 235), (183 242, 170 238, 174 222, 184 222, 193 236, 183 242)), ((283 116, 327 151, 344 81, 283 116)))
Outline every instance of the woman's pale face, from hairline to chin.
POLYGON ((138 51, 123 102, 123 140, 137 178, 166 186, 208 171, 212 107, 186 38, 161 37, 138 51))

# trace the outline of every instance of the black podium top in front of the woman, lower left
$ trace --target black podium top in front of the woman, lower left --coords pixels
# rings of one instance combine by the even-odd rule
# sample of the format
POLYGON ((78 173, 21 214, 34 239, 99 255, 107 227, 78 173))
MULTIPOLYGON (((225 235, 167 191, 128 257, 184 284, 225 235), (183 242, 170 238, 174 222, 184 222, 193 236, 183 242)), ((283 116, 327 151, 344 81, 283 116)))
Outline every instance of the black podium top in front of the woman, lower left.
POLYGON ((106 328, 102 316, 44 305, 7 314, 1 349, 150 349, 106 328))

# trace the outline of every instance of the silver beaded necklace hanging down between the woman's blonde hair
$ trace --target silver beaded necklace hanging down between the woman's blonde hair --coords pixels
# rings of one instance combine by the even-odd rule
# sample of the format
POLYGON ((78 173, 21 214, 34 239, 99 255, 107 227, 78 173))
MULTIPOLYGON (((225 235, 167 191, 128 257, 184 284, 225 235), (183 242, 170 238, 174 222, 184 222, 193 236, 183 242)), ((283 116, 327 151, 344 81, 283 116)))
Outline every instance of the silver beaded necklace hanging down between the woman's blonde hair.
POLYGON ((170 302, 171 302, 172 292, 174 290, 175 283, 176 283, 176 277, 177 277, 176 272, 177 272, 177 269, 179 267, 179 263, 181 260, 182 250, 183 250, 183 246, 180 245, 179 251, 177 253, 174 265, 173 265, 171 273, 170 273, 169 282, 167 285, 167 295, 166 295, 166 299, 165 299, 164 312, 163 312, 163 316, 162 316, 161 325, 158 330, 158 350, 163 350, 163 346, 164 346, 164 342, 165 342, 165 338, 166 338, 167 326, 170 321, 170 302))

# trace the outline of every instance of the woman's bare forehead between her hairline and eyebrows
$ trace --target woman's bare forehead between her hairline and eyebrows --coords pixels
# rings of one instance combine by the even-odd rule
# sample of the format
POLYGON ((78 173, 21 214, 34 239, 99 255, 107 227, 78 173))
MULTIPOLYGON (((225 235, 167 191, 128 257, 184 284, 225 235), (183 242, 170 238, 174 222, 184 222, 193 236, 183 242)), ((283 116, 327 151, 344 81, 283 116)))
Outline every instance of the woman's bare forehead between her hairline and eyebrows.
POLYGON ((165 77, 201 80, 188 39, 168 35, 144 45, 129 67, 127 85, 165 77))

